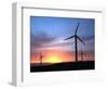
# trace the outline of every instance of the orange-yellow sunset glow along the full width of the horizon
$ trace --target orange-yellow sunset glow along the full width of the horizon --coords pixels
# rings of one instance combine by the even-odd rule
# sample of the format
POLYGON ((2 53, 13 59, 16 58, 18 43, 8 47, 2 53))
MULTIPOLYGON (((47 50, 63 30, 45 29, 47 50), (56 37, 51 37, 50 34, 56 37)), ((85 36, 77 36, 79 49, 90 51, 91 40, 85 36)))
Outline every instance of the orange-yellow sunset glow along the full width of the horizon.
MULTIPOLYGON (((43 58, 42 63, 62 63, 62 62, 75 62, 75 53, 69 51, 58 51, 58 50, 44 50, 41 51, 43 58)), ((83 61, 93 61, 94 55, 86 53, 83 56, 83 61)), ((79 61, 81 61, 81 55, 79 55, 79 61)), ((32 54, 30 56, 30 63, 40 63, 40 56, 37 54, 32 54)))

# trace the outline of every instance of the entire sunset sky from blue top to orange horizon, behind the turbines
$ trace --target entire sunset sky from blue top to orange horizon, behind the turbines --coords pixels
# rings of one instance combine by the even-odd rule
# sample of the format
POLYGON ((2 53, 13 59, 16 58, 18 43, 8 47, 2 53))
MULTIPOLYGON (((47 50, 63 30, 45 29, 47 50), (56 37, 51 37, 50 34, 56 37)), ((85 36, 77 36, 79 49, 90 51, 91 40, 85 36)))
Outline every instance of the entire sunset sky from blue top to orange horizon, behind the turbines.
POLYGON ((75 62, 75 40, 64 40, 75 35, 76 26, 78 36, 85 42, 83 46, 78 41, 78 54, 81 60, 81 48, 83 60, 94 60, 94 18, 72 17, 30 17, 30 63, 75 62))

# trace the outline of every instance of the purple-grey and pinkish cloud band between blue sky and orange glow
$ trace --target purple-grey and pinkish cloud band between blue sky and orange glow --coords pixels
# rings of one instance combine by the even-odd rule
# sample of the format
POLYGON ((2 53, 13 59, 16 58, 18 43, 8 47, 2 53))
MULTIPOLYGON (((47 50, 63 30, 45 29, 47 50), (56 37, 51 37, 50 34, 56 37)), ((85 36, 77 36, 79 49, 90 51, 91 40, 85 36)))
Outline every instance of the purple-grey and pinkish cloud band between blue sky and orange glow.
MULTIPOLYGON (((79 36, 81 37, 81 36, 79 36)), ((81 39, 85 42, 83 50, 93 51, 94 49, 94 35, 92 36, 83 36, 81 39)), ((59 49, 59 50, 73 50, 75 40, 64 40, 64 38, 55 38, 51 35, 48 35, 44 31, 38 31, 30 34, 30 51, 35 53, 36 50, 44 50, 44 49, 59 49)), ((80 47, 79 47, 80 48, 80 47)))

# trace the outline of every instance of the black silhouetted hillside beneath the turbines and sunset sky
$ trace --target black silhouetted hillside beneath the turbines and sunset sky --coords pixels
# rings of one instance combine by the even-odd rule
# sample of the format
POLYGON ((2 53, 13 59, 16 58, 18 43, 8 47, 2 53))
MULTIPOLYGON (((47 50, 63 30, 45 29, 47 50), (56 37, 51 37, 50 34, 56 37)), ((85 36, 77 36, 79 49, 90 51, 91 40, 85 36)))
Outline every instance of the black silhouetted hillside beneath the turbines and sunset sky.
POLYGON ((94 61, 57 63, 52 65, 30 66, 30 72, 95 69, 94 61))

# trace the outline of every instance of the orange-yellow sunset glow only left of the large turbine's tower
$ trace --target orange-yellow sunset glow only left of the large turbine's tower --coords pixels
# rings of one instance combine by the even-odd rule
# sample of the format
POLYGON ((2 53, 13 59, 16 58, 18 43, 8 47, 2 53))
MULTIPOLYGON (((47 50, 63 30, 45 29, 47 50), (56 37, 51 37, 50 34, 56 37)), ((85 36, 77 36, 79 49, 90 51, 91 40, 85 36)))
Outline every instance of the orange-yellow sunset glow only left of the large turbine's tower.
MULTIPOLYGON (((72 62, 72 52, 67 51, 56 51, 56 50, 45 50, 42 51, 42 63, 60 63, 60 62, 72 62)), ((30 63, 40 63, 40 58, 32 55, 30 63)))

